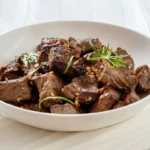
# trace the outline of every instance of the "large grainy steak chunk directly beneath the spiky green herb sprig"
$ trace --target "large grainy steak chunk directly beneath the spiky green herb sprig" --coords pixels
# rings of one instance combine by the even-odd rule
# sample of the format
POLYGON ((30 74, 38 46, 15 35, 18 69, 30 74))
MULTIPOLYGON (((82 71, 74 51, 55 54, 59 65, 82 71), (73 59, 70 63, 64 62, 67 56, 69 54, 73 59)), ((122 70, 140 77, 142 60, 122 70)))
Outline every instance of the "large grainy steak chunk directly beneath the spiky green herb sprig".
POLYGON ((98 81, 104 85, 124 90, 126 92, 135 90, 137 85, 137 77, 133 71, 127 67, 110 67, 110 64, 103 60, 97 62, 94 66, 94 72, 98 81))

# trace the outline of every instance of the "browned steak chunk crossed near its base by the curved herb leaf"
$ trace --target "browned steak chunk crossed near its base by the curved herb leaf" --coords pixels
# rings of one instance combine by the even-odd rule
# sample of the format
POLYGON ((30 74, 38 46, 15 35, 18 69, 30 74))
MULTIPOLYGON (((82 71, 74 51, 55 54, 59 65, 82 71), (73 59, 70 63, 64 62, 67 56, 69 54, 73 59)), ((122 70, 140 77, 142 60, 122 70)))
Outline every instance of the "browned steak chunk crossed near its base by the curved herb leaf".
MULTIPOLYGON (((33 82, 39 91, 39 101, 49 96, 61 96, 61 89, 63 88, 64 83, 61 78, 54 74, 54 72, 38 76, 33 79, 33 82)), ((42 104, 44 107, 49 108, 51 105, 59 103, 61 103, 61 100, 50 99, 42 104)))

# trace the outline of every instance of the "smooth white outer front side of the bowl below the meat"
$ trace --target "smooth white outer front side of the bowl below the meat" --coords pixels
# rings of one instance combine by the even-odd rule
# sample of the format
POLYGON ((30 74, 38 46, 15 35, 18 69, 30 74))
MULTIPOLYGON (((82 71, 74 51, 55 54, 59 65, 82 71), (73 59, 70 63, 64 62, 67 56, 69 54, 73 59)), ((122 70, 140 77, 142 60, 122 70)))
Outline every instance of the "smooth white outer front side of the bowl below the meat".
POLYGON ((14 107, 4 102, 0 102, 0 111, 13 120, 37 128, 55 131, 86 131, 125 121, 143 111, 149 101, 149 97, 146 97, 142 102, 125 108, 85 115, 40 113, 14 107))

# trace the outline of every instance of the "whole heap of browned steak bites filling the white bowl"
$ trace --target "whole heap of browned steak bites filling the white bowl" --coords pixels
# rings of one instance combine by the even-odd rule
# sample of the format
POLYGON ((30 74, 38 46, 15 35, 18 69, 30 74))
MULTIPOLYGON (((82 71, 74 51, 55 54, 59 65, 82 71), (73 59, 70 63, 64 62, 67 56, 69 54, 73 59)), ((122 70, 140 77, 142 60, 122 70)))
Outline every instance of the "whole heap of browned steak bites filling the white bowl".
POLYGON ((140 100, 138 93, 150 90, 148 65, 135 70, 132 57, 119 47, 111 55, 126 55, 127 66, 89 60, 98 57, 90 42, 102 51, 98 38, 43 38, 36 52, 1 67, 0 99, 23 109, 80 114, 132 104, 140 100))

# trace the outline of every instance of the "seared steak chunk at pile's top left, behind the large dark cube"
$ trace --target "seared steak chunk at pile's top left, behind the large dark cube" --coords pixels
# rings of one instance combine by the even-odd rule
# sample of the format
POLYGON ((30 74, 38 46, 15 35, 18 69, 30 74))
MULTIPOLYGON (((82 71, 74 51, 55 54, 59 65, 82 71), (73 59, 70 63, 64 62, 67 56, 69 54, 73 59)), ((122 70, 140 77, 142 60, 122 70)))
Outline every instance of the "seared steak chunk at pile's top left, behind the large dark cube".
POLYGON ((67 40, 60 38, 43 38, 41 44, 38 46, 39 62, 48 61, 48 55, 51 47, 56 47, 58 45, 67 44, 67 40))

